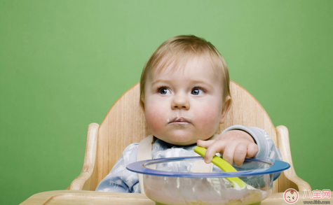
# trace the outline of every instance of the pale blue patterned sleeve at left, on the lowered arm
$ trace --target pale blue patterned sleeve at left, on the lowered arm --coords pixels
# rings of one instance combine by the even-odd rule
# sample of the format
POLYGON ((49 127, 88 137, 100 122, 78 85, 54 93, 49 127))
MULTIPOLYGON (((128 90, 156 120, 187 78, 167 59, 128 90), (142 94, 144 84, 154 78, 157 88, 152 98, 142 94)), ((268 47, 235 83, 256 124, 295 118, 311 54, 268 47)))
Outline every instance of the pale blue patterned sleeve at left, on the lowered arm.
POLYGON ((132 143, 125 148, 118 162, 97 186, 97 192, 140 193, 138 175, 126 169, 128 164, 136 162, 138 146, 139 143, 132 143))

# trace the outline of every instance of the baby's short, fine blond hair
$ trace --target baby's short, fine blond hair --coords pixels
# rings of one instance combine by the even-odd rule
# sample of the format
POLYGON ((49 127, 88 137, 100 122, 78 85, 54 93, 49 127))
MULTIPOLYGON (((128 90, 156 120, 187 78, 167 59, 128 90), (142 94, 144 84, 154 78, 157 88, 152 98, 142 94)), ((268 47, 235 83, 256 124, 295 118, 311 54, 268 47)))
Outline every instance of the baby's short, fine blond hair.
POLYGON ((224 88, 222 102, 224 104, 226 97, 231 97, 229 71, 224 58, 215 46, 204 38, 198 38, 193 35, 181 35, 164 41, 149 57, 146 64, 144 64, 140 79, 141 106, 147 76, 153 74, 155 71, 161 71, 161 69, 170 66, 170 64, 177 65, 178 68, 182 67, 181 64, 186 64, 189 59, 203 55, 206 55, 210 59, 213 69, 222 75, 222 87, 224 88))

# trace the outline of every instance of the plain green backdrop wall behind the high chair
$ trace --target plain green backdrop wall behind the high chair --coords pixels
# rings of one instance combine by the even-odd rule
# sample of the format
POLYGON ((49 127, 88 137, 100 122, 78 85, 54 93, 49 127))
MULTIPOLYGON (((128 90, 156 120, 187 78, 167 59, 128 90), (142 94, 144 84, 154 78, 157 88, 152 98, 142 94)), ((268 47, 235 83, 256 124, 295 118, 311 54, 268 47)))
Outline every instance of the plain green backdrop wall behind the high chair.
POLYGON ((333 1, 0 1, 0 200, 63 190, 166 39, 212 42, 290 132, 297 175, 333 190, 333 1))

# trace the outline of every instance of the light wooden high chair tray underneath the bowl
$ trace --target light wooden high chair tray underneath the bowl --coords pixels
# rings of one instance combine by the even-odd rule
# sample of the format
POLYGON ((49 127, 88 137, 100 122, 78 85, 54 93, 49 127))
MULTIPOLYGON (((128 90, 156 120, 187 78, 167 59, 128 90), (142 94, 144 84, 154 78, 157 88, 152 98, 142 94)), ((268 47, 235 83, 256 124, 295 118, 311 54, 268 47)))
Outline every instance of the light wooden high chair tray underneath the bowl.
MULTIPOLYGON (((313 201, 308 195, 303 199, 304 192, 299 192, 299 200, 295 204, 304 204, 304 201, 313 201)), ((329 201, 331 199, 320 199, 320 201, 329 201)), ((22 205, 38 205, 38 204, 137 204, 137 205, 155 205, 155 202, 148 199, 146 195, 142 194, 129 194, 129 193, 113 193, 113 192, 93 192, 93 191, 74 191, 74 190, 59 190, 41 192, 32 195, 22 205)), ((283 199, 283 192, 273 193, 267 199, 261 202, 261 205, 285 205, 287 204, 283 199)))

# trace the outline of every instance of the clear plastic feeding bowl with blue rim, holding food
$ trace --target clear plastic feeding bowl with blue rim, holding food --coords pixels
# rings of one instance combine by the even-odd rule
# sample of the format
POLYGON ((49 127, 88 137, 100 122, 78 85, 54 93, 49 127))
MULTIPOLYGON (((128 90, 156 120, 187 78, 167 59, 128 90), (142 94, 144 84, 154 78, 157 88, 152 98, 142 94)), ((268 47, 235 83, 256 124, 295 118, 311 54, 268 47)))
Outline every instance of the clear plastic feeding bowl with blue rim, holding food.
POLYGON ((203 157, 172 157, 145 160, 126 167, 143 174, 144 192, 156 204, 261 204, 271 194, 273 179, 290 164, 279 160, 246 158, 235 172, 193 172, 203 157), (275 177, 274 177, 275 176, 275 177), (227 178, 238 177, 247 186, 233 187, 227 178))

